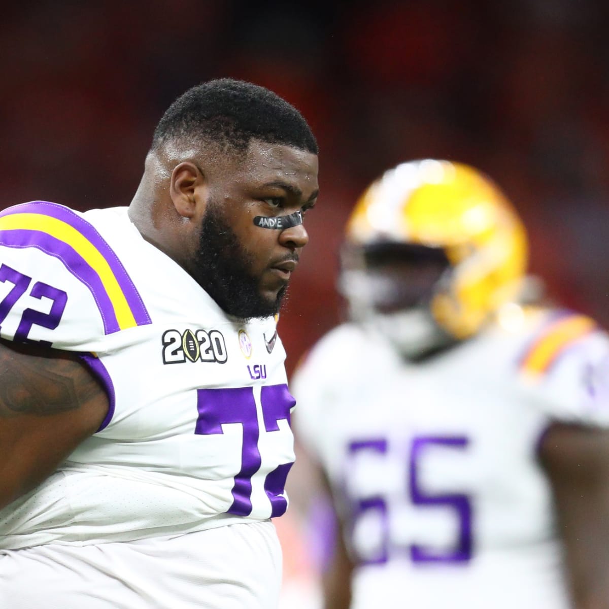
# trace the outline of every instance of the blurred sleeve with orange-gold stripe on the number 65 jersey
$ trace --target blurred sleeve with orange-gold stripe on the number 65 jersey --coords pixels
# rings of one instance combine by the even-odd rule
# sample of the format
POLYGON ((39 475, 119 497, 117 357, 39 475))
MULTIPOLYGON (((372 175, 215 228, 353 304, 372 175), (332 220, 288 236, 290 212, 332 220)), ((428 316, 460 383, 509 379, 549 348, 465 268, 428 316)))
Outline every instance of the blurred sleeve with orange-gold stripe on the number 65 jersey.
POLYGON ((543 328, 520 370, 550 421, 609 427, 609 336, 589 317, 564 315, 543 328))

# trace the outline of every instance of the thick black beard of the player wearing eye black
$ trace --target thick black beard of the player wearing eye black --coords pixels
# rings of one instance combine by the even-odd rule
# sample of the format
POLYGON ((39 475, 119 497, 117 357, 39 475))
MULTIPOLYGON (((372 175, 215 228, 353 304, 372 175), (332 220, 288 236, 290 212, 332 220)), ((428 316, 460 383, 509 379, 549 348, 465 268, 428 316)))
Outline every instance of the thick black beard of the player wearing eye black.
POLYGON ((239 319, 269 317, 279 312, 287 286, 275 300, 262 297, 260 278, 251 274, 253 256, 239 243, 219 208, 209 202, 192 261, 195 281, 229 315, 239 319))

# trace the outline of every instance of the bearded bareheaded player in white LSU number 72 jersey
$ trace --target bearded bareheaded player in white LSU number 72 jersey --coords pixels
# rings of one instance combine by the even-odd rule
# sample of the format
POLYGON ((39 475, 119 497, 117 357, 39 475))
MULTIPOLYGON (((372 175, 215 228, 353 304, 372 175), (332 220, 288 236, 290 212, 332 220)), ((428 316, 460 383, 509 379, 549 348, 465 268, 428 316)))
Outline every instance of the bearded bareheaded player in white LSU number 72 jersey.
POLYGON ((317 144, 219 79, 130 206, 0 213, 0 607, 276 607, 294 399, 276 313, 317 144))

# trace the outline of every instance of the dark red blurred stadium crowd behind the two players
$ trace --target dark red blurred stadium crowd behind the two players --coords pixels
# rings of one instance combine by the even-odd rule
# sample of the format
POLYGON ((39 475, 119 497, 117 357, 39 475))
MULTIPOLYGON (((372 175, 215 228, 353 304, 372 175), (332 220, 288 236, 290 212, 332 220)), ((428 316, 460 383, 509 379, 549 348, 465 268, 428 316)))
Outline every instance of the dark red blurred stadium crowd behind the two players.
POLYGON ((608 25, 604 0, 5 3, 0 208, 127 205, 163 108, 232 76, 297 105, 320 144, 322 196, 280 325, 288 371, 337 320, 354 197, 412 158, 495 178, 532 269, 607 326, 608 25))

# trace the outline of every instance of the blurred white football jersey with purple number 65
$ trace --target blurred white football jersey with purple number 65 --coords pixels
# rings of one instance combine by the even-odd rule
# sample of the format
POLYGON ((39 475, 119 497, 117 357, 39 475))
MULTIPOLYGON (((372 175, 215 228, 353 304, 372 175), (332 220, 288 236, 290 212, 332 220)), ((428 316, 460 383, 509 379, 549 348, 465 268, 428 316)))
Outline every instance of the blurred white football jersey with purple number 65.
POLYGON ((297 435, 359 563, 354 608, 569 606, 537 450, 552 421, 609 426, 609 340, 568 311, 505 321, 420 363, 339 326, 295 375, 297 435))

